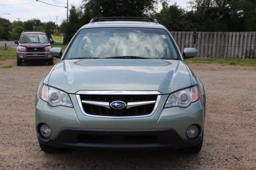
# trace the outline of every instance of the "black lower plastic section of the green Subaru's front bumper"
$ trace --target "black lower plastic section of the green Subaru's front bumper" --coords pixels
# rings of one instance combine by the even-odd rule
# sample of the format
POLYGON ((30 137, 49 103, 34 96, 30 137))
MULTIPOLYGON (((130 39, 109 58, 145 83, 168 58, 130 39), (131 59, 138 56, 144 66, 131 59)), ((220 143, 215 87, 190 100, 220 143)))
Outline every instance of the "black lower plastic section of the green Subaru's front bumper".
POLYGON ((54 147, 111 148, 111 149, 179 149, 197 145, 202 135, 183 140, 173 129, 122 130, 63 129, 56 138, 45 139, 38 134, 38 141, 54 147))

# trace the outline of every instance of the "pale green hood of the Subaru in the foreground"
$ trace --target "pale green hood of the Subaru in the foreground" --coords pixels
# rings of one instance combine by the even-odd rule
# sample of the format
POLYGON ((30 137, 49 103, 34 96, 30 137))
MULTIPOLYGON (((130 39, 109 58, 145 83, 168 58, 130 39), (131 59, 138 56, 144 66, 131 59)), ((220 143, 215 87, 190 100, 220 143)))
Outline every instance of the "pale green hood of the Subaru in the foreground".
POLYGON ((169 94, 191 86, 191 80, 183 61, 83 59, 60 61, 52 69, 48 85, 68 93, 80 90, 156 90, 169 94))

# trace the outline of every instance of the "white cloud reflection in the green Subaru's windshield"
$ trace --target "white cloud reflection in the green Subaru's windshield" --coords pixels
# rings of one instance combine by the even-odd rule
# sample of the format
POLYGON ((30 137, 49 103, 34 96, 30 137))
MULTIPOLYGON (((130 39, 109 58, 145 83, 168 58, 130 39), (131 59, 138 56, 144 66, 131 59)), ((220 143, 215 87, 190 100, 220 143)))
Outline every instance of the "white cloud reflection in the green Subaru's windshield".
POLYGON ((160 35, 135 32, 98 33, 84 36, 82 57, 170 57, 170 49, 160 35), (99 35, 100 34, 100 35, 99 35))

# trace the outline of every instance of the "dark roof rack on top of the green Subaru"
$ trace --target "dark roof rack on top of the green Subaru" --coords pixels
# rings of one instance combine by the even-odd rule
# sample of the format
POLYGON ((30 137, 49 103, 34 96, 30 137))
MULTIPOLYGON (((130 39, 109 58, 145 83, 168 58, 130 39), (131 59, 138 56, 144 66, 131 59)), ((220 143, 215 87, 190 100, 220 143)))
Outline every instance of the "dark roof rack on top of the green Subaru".
POLYGON ((147 17, 100 17, 91 19, 90 23, 100 22, 100 21, 146 21, 158 23, 158 21, 154 18, 147 17))

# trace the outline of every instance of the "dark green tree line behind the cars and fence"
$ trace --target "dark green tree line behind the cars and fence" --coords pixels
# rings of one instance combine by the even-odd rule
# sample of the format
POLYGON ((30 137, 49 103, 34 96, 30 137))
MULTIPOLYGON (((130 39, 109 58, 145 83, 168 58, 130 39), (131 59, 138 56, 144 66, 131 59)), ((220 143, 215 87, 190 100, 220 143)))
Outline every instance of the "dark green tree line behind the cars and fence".
MULTIPOLYGON (((71 6, 69 19, 62 21, 60 30, 68 42, 91 18, 111 16, 156 18, 170 31, 256 31, 255 0, 191 0, 186 9, 178 4, 169 5, 169 0, 82 0, 82 5, 71 6)), ((20 31, 31 30, 35 21, 36 30, 45 31, 48 36, 52 33, 55 23, 51 21, 8 23, 0 18, 0 39, 17 39, 20 31)))

